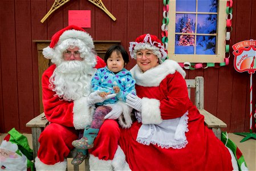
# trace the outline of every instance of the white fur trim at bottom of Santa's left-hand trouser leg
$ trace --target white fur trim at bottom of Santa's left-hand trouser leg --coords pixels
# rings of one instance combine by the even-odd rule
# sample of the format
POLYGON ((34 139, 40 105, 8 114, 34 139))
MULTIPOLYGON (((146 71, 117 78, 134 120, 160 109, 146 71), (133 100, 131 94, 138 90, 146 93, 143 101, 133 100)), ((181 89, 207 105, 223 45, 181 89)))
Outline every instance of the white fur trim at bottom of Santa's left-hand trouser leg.
POLYGON ((35 168, 39 170, 66 170, 67 168, 67 159, 65 158, 62 162, 57 162, 54 165, 46 165, 38 157, 35 158, 35 168))

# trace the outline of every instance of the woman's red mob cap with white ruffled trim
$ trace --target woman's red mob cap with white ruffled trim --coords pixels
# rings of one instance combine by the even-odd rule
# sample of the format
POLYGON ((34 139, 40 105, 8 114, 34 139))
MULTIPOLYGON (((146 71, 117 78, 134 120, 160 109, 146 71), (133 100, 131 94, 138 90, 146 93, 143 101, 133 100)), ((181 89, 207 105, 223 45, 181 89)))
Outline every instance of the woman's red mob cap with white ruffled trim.
POLYGON ((144 44, 150 44, 151 46, 147 46, 148 50, 158 50, 161 52, 161 56, 158 56, 160 58, 160 61, 164 61, 166 59, 167 53, 165 51, 164 45, 162 44, 161 40, 157 38, 155 35, 151 34, 143 34, 140 35, 135 39, 135 42, 130 42, 129 46, 129 52, 131 55, 131 58, 136 59, 136 55, 134 53, 136 47, 144 47, 144 44))

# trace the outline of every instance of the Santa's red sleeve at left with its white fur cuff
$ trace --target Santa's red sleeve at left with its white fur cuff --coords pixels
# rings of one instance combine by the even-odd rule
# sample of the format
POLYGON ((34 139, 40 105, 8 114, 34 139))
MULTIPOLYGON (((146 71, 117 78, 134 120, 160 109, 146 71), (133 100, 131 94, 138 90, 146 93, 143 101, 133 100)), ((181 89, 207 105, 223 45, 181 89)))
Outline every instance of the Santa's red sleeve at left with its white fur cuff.
POLYGON ((49 78, 55 68, 55 64, 50 66, 42 76, 42 99, 46 118, 51 123, 84 129, 92 121, 92 109, 87 105, 87 97, 66 101, 56 96, 49 88, 49 78))

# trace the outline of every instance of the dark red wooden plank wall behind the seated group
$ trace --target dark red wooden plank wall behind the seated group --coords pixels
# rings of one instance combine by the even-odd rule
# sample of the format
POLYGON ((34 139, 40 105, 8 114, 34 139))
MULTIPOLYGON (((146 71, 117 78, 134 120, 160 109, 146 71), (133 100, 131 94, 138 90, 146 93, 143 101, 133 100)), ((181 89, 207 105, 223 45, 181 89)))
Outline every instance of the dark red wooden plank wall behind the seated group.
MULTIPOLYGON (((161 38, 161 0, 103 0, 117 18, 115 22, 87 0, 71 0, 40 23, 54 0, 0 1, 0 132, 15 127, 29 133, 26 123, 39 114, 38 57, 32 40, 47 40, 68 26, 68 10, 91 10, 91 28, 86 28, 94 40, 128 42, 144 33, 161 38)), ((254 0, 233 0, 231 45, 256 39, 256 9, 254 0)), ((232 51, 230 46, 230 51, 232 51)), ((250 113, 250 79, 246 72, 229 66, 186 71, 186 78, 205 78, 205 109, 227 124, 227 132, 248 132, 250 113)), ((131 60, 128 69, 135 65, 131 60)), ((256 103, 256 74, 253 75, 253 109, 256 103)), ((254 123, 254 120, 253 120, 254 123)), ((254 124, 253 124, 254 125, 254 124)), ((254 129, 255 132, 255 129, 254 129)))

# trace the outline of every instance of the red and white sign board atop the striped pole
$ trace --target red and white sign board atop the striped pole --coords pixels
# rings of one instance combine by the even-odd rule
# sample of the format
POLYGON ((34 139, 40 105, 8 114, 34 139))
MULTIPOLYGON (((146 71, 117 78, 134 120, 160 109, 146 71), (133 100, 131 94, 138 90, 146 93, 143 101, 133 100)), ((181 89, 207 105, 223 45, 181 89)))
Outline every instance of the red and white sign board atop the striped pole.
POLYGON ((232 48, 235 56, 235 70, 254 74, 256 71, 256 40, 245 40, 234 44, 232 48))

